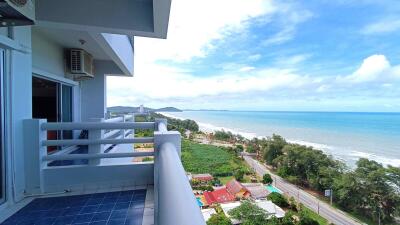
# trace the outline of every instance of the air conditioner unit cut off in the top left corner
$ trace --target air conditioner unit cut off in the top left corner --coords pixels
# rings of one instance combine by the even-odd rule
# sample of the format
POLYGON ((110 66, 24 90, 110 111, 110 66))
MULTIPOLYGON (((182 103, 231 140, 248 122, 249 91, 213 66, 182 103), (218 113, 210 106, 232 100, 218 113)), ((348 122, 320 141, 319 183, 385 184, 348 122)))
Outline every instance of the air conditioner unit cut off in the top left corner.
POLYGON ((35 23, 35 0, 0 0, 0 27, 35 23))

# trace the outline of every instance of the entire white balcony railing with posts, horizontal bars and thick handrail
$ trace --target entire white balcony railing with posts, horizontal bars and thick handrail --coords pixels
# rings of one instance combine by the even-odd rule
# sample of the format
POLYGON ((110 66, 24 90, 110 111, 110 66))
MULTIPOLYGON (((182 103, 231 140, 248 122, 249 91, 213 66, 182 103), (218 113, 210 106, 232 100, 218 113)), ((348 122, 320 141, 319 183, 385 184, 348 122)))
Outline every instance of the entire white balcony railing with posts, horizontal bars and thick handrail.
POLYGON ((155 224, 205 225, 180 161, 180 133, 168 131, 163 119, 156 122, 131 121, 131 117, 80 123, 48 123, 42 119, 24 121, 27 194, 74 191, 91 186, 111 188, 154 184, 155 224), (135 129, 153 129, 154 137, 135 138, 135 129), (88 139, 47 140, 49 130, 87 130, 88 139), (104 151, 105 146, 135 143, 154 143, 154 152, 104 151), (83 145, 87 146, 84 154, 70 154, 70 151, 48 154, 47 151, 48 146, 83 145), (139 156, 154 156, 154 163, 101 163, 102 159, 139 156), (49 166, 50 162, 60 160, 88 160, 88 163, 49 166))

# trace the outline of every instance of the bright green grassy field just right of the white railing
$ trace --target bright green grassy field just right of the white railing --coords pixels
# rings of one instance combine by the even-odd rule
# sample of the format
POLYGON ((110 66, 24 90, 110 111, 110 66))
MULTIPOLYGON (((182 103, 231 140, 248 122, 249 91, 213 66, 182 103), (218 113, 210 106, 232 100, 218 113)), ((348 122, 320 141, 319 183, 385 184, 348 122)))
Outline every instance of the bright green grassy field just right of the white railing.
POLYGON ((190 140, 182 140, 182 163, 187 172, 210 173, 214 177, 233 176, 239 170, 248 171, 244 161, 227 148, 190 140))

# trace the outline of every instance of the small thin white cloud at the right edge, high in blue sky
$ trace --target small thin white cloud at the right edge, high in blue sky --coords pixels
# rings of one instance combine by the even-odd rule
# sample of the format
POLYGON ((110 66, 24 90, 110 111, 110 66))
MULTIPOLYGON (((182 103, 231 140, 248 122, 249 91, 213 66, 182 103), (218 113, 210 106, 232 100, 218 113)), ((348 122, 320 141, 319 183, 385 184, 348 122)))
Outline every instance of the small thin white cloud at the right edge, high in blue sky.
POLYGON ((362 34, 386 34, 400 30, 400 19, 389 18, 368 24, 362 30, 362 34))

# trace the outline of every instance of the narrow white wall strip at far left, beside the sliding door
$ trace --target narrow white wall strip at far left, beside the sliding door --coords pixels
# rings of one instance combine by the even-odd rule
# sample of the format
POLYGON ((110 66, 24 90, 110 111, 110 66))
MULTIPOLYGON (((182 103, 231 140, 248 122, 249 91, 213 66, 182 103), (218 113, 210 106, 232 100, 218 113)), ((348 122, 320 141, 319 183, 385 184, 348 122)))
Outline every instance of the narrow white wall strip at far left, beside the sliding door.
MULTIPOLYGON (((8 32, 2 29, 0 35, 6 39, 8 32)), ((4 139, 8 203, 13 200, 19 201, 24 195, 25 146, 23 142, 22 121, 23 119, 32 117, 31 28, 13 28, 11 29, 10 37, 13 38, 9 43, 12 43, 19 51, 14 50, 7 43, 2 43, 2 47, 8 48, 6 50, 6 71, 4 73, 4 139)))

